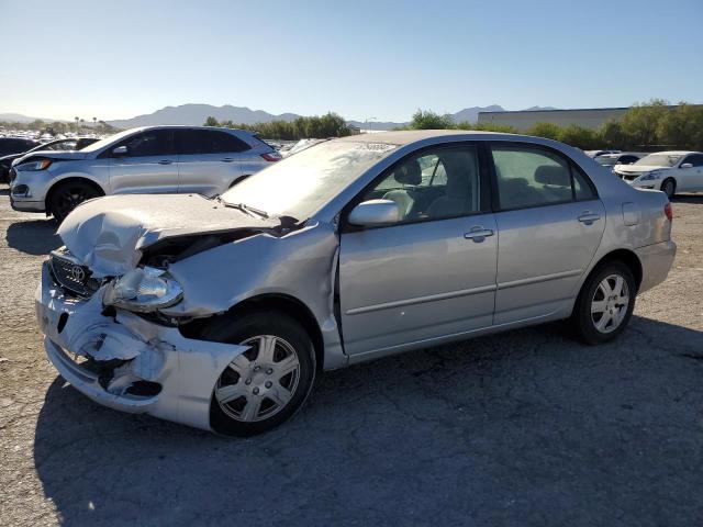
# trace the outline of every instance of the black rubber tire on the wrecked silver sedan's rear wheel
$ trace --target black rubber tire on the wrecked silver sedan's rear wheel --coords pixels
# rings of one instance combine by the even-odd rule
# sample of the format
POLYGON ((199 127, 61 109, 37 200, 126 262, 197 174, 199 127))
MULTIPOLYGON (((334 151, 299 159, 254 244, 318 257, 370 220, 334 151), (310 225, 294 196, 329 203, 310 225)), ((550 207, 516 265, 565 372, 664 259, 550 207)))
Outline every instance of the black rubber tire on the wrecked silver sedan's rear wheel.
MULTIPOLYGON (((611 280, 610 283, 613 283, 613 280, 611 280)), ((625 264, 611 261, 598 267, 585 280, 585 283, 581 288, 581 292, 576 301, 576 305, 573 306, 571 323, 576 332, 576 336, 589 345, 603 344, 616 338, 623 329, 625 329, 629 318, 632 317, 633 310, 635 309, 636 294, 637 284, 635 283, 635 278, 625 264), (628 293, 626 306, 616 300, 602 298, 603 290, 600 289, 601 283, 609 277, 622 277, 624 280, 628 293), (605 310, 602 315, 600 313, 592 313, 592 306, 595 307, 596 303, 600 306, 602 305, 601 302, 605 302, 605 305, 614 305, 614 307, 612 310, 605 310), (609 302, 611 304, 609 304, 609 302), (621 305, 623 305, 623 307, 618 307, 621 305), (621 311, 623 309, 624 312, 621 311), (613 316, 614 311, 615 316, 613 316), (606 322, 606 325, 602 329, 599 329, 598 326, 601 318, 609 316, 611 317, 612 323, 603 321, 606 322), (621 316, 622 318, 620 318, 621 316), (617 325, 615 325, 616 319, 618 319, 617 325)), ((615 294, 613 296, 615 296, 615 294)))

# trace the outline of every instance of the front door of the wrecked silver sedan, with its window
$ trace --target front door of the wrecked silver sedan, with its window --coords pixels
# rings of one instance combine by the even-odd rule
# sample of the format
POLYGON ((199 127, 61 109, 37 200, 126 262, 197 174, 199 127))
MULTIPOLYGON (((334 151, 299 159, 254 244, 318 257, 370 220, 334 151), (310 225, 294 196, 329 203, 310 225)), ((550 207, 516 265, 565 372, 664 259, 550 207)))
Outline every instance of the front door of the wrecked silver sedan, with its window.
POLYGON ((347 354, 384 355, 491 325, 498 236, 479 159, 477 146, 466 144, 411 155, 352 204, 392 200, 401 217, 375 228, 343 220, 338 293, 347 354), (437 158, 445 184, 428 189, 437 158))

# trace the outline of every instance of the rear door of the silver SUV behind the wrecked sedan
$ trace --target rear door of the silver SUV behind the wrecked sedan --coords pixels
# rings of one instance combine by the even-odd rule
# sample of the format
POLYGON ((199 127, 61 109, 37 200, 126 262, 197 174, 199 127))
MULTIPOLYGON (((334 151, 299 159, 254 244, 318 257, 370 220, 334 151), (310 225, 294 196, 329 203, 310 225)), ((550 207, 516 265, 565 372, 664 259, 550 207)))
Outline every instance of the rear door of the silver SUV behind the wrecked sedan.
POLYGON ((179 192, 215 195, 242 176, 242 155, 249 145, 221 130, 185 128, 177 132, 179 192))

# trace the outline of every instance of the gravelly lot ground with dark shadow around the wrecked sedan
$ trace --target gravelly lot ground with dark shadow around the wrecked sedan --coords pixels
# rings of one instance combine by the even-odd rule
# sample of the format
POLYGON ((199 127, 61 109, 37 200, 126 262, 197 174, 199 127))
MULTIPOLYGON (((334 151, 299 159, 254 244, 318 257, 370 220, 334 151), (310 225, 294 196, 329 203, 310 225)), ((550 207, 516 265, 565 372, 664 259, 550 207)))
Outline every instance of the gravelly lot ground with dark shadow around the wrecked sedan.
POLYGON ((34 322, 54 224, 0 189, 0 525, 703 525, 703 197, 615 344, 559 325, 323 375, 226 439, 93 404, 34 322))

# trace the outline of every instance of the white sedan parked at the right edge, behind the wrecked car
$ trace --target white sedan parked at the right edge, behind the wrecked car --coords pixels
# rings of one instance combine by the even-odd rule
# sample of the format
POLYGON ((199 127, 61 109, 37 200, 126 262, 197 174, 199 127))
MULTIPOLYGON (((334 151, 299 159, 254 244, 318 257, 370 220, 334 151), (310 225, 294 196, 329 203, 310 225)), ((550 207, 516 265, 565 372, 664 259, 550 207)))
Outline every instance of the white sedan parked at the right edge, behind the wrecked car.
POLYGON ((658 152, 615 175, 637 189, 661 190, 669 198, 677 192, 703 192, 703 153, 658 152))

